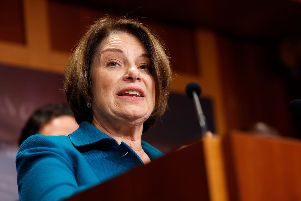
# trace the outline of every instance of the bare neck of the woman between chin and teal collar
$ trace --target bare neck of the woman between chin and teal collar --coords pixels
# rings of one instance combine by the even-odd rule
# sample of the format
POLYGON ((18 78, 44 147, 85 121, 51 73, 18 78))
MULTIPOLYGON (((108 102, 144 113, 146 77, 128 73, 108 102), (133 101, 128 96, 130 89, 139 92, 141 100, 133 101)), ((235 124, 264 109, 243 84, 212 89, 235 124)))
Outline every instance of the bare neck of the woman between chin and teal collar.
POLYGON ((104 119, 96 120, 94 117, 92 119, 92 125, 97 129, 114 138, 119 144, 125 142, 137 154, 140 154, 143 151, 141 146, 143 123, 132 124, 120 123, 120 121, 114 122, 118 122, 118 125, 116 123, 107 122, 104 119))

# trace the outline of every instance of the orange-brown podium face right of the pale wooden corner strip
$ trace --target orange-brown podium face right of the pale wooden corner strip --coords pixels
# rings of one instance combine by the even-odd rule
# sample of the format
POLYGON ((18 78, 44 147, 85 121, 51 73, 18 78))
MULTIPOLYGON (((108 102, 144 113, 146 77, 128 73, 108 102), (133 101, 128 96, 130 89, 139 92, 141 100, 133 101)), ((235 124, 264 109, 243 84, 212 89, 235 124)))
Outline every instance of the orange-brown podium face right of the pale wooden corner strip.
POLYGON ((234 131, 223 139, 229 200, 301 200, 301 141, 234 131))

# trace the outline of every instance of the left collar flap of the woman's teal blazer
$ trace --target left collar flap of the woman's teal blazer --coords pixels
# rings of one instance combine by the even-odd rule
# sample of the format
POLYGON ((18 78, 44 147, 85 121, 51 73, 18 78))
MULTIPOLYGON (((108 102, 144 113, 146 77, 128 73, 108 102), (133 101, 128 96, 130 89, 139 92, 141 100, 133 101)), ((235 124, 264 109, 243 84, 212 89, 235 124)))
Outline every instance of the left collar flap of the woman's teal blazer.
MULTIPOLYGON (((107 139, 116 142, 115 139, 101 132, 101 130, 97 129, 91 123, 88 123, 86 121, 83 121, 80 124, 79 128, 68 136, 72 144, 76 147, 90 145, 102 139, 107 139)), ((118 145, 117 142, 116 145, 118 145)))

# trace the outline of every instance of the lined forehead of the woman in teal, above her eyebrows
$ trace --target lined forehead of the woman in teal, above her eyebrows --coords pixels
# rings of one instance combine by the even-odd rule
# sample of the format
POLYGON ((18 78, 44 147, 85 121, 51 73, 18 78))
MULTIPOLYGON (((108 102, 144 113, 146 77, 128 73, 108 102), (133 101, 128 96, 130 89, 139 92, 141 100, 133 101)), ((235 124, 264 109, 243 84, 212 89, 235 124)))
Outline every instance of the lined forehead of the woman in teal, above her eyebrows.
POLYGON ((147 53, 141 41, 128 33, 114 33, 106 37, 99 46, 100 53, 110 51, 147 53))

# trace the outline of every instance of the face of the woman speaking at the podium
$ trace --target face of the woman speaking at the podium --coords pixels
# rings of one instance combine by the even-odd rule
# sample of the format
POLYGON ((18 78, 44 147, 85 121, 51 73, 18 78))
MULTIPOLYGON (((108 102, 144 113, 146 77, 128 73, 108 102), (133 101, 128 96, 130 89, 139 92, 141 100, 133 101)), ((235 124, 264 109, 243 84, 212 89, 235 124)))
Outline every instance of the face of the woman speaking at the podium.
POLYGON ((147 120, 155 105, 151 65, 137 37, 118 33, 105 38, 92 63, 93 118, 147 120))

